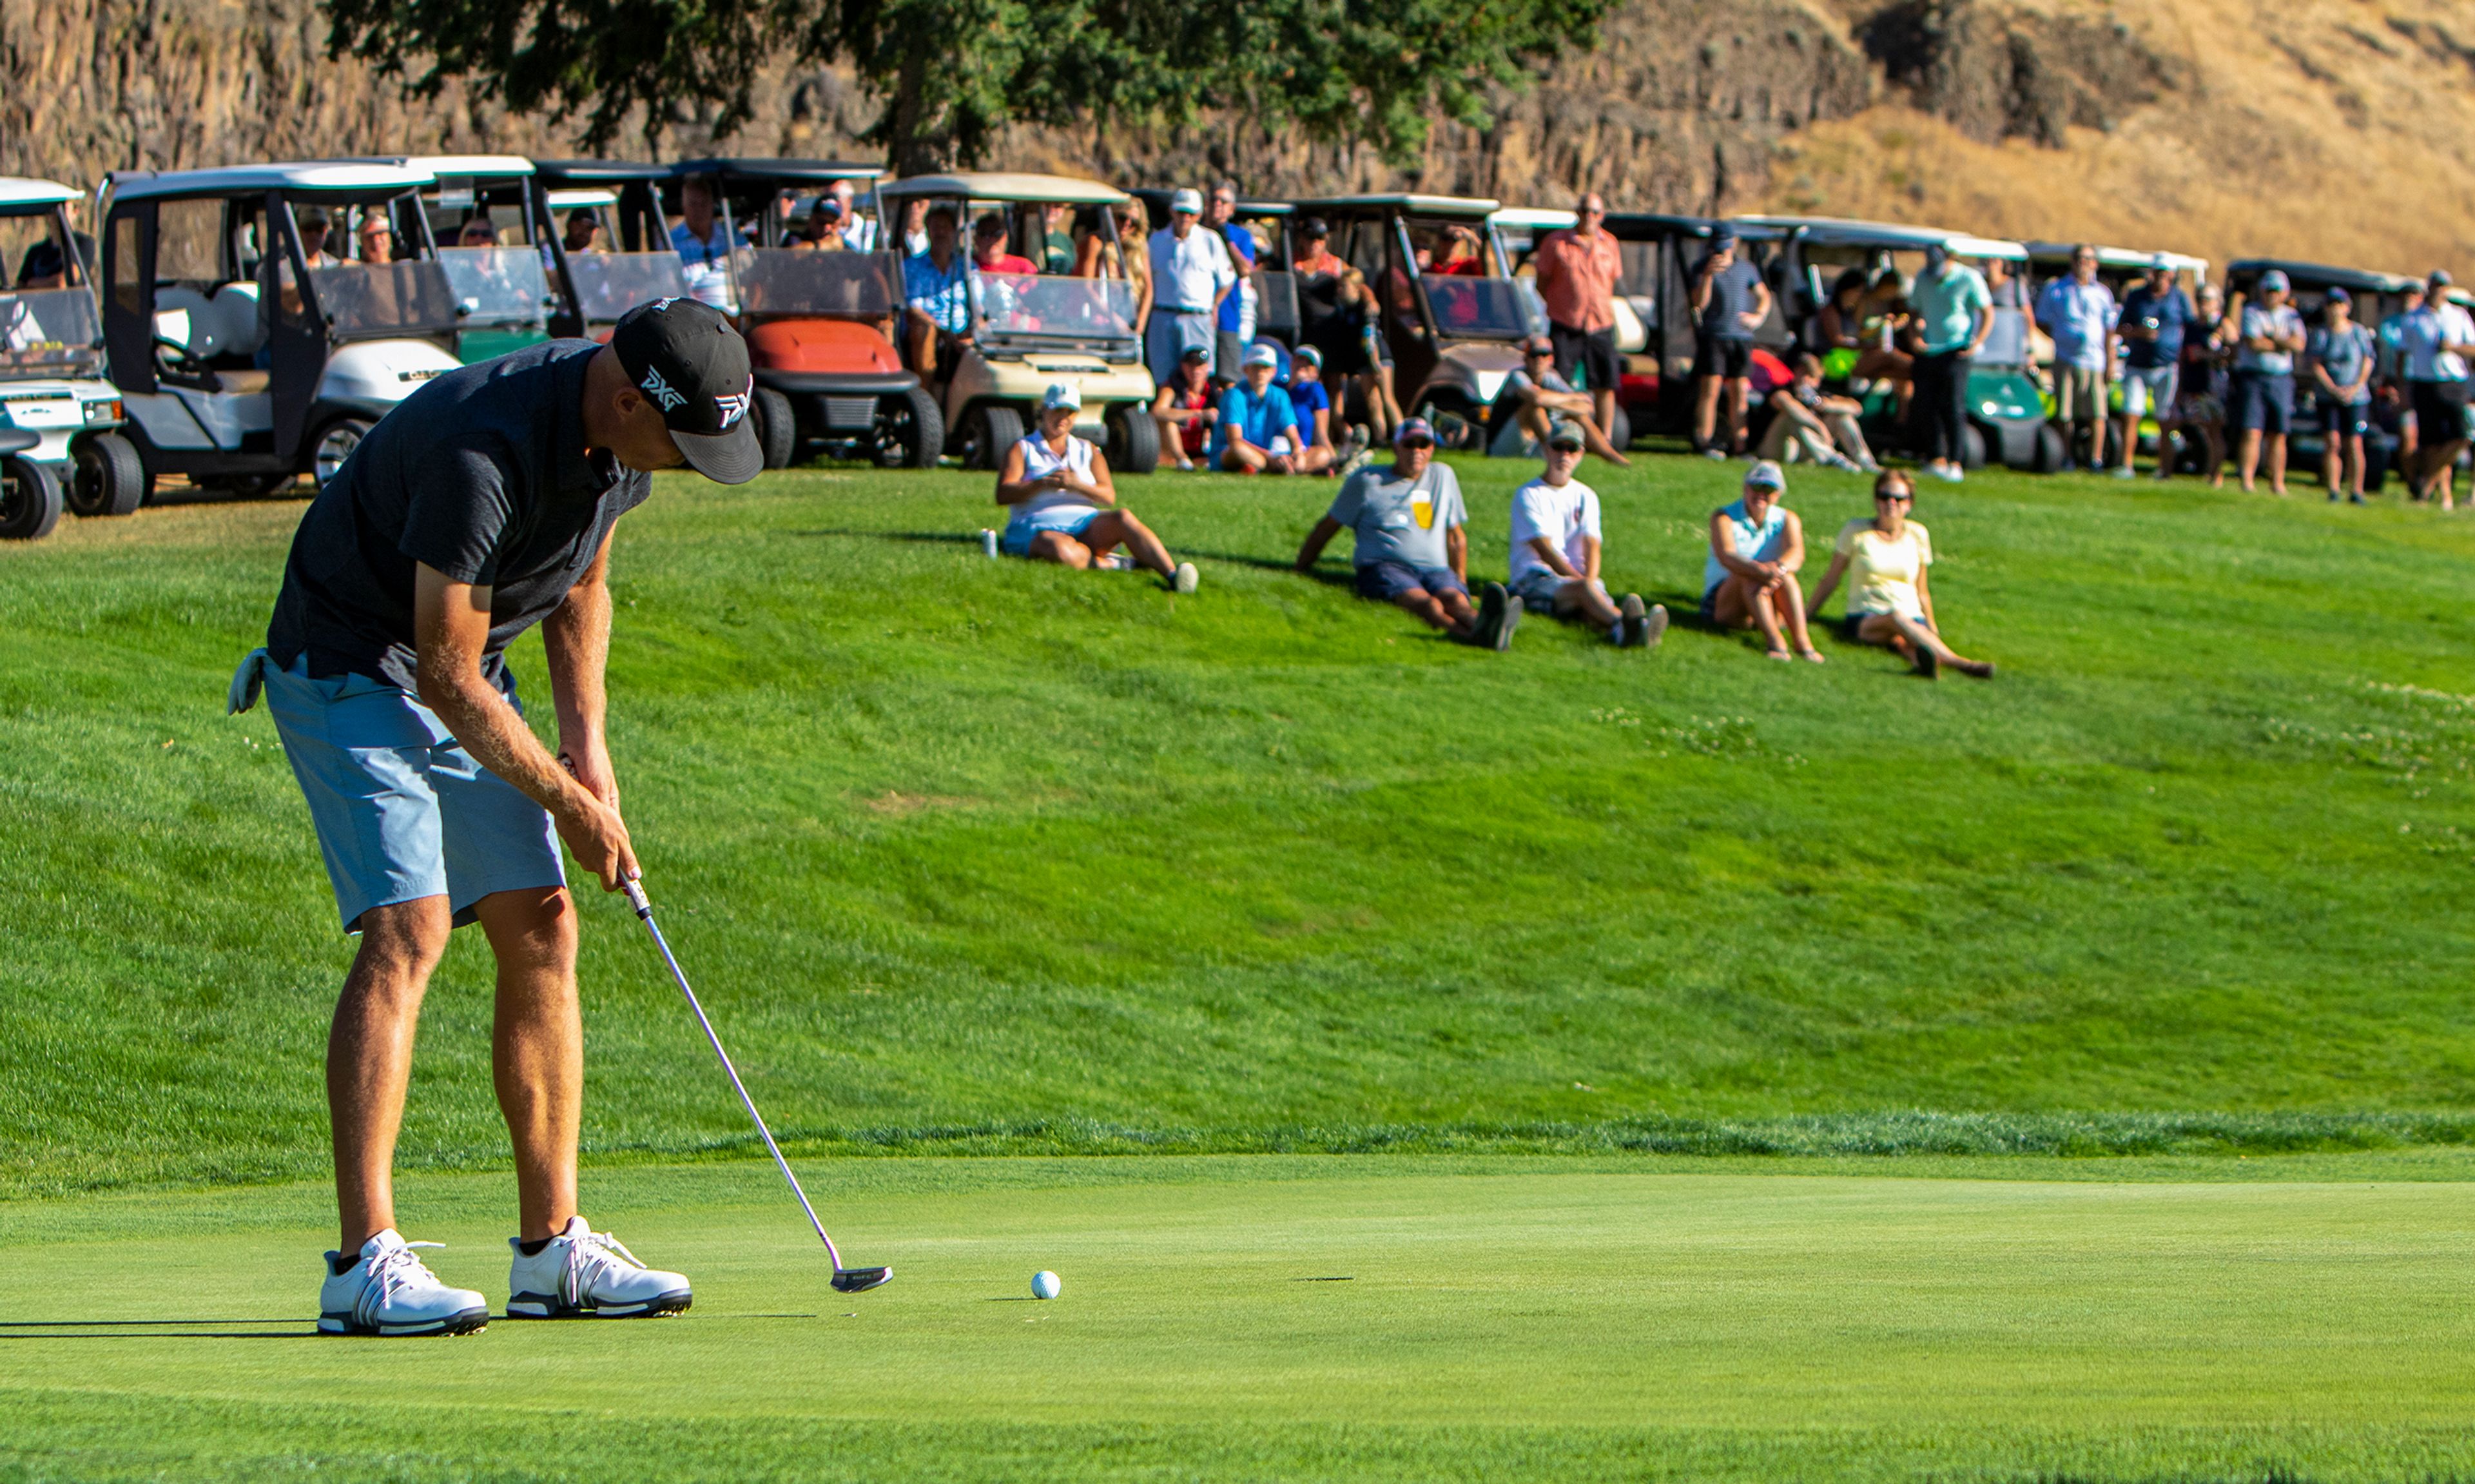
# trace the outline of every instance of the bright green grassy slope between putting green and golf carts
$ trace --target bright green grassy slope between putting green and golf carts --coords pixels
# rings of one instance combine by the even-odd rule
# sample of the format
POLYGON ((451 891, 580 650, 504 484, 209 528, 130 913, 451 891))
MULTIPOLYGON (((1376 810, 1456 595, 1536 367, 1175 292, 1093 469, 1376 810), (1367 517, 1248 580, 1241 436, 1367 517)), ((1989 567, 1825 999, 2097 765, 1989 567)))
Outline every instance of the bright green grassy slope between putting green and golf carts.
MULTIPOLYGON (((1525 471, 1465 473, 1500 570, 1525 471)), ((1728 481, 1604 478, 1611 577, 1688 602, 1728 481)), ((1322 498, 1141 483, 1193 600, 980 560, 985 481, 950 473, 678 481, 629 518, 629 815, 782 1127, 2136 1147, 2468 1105, 2463 528, 1930 491, 1945 619, 2005 679, 1923 686, 1700 632, 1455 649, 1280 570, 1322 498)), ((1794 503, 1827 535, 1864 495, 1794 503)), ((349 949, 272 726, 220 716, 292 513, 0 552, 0 1189, 319 1169, 349 949)), ((587 909, 589 1145, 745 1150, 631 924, 587 909)), ((502 1157, 485 1023, 460 941, 411 1162, 502 1157)))

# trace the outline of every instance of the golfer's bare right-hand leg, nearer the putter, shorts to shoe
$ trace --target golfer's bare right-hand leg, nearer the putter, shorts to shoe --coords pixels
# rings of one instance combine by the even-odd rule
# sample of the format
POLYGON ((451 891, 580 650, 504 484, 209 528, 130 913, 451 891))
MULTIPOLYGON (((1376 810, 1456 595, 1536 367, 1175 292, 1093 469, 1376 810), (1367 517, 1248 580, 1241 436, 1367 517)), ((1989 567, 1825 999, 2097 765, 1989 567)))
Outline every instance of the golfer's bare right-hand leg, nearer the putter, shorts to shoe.
POLYGON ((497 956, 490 1075, 515 1145, 517 1236, 540 1241, 577 1214, 584 1117, 584 1016, 577 1008, 577 904, 564 887, 493 892, 473 904, 497 956))

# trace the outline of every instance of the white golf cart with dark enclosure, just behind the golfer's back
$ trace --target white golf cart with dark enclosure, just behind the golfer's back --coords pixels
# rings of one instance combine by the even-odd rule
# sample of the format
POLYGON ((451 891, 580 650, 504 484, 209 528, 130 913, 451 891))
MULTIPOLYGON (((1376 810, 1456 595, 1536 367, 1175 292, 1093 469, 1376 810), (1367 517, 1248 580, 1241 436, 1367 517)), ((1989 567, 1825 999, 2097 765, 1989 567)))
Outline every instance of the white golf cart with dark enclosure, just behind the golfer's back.
POLYGON ((418 211, 431 186, 381 164, 104 178, 104 342, 148 478, 245 495, 299 473, 324 486, 371 424, 460 364, 455 287, 418 211), (332 218, 324 243, 302 240, 309 208, 332 218), (416 255, 307 265, 307 248, 349 243, 371 211, 416 255))

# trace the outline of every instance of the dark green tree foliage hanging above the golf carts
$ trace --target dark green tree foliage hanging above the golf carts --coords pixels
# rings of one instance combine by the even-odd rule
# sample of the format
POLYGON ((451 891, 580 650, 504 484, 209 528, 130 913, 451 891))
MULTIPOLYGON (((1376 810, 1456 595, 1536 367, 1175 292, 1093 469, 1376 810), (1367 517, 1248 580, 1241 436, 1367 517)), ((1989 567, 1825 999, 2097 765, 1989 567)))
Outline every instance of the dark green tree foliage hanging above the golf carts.
POLYGON ((752 114, 757 62, 849 62, 903 171, 978 164, 1005 124, 1186 124, 1205 109, 1416 159, 1436 119, 1596 40, 1614 0, 327 0, 334 55, 418 92, 463 79, 584 114, 594 149, 752 114))

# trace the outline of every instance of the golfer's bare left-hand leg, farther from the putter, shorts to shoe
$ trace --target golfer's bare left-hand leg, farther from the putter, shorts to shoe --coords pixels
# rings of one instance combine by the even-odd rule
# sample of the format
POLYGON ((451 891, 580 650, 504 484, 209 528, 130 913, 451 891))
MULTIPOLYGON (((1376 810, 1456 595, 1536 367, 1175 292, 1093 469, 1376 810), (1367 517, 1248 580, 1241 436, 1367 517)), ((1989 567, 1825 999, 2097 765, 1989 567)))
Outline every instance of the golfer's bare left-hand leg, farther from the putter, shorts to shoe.
POLYGON ((334 1204, 344 1244, 396 1224, 396 1132, 413 1075, 413 1028, 431 971, 448 949, 448 899, 391 902, 361 914, 361 949, 327 1031, 327 1117, 334 1125, 334 1204))

